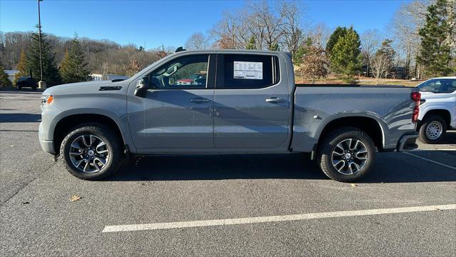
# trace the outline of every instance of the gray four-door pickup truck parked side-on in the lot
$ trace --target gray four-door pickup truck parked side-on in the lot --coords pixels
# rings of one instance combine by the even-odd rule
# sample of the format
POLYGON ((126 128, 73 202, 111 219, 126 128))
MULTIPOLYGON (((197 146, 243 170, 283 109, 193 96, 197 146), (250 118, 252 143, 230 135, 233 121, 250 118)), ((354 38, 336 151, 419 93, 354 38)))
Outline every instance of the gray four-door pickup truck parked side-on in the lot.
POLYGON ((416 147, 420 93, 300 86, 286 52, 212 50, 178 51, 125 81, 53 86, 41 103, 41 147, 78 178, 104 178, 130 156, 311 153, 348 182, 376 151, 416 147))

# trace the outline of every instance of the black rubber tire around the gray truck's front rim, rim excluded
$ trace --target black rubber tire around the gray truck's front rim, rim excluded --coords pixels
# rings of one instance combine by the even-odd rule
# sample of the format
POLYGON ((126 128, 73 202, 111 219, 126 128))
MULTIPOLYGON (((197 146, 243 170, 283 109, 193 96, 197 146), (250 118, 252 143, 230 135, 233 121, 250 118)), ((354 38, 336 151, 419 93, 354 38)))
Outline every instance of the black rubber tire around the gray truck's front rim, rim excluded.
POLYGON ((111 173, 117 171, 118 163, 120 163, 120 149, 118 143, 113 142, 115 137, 108 136, 109 133, 105 133, 107 127, 105 126, 81 126, 79 128, 73 129, 71 133, 63 139, 61 144, 61 156, 63 158, 63 163, 65 163, 66 168, 68 171, 78 178, 83 178, 86 180, 96 180, 100 178, 105 178, 109 176, 111 173), (78 136, 91 134, 93 136, 98 136, 101 140, 106 143, 106 147, 109 151, 109 159, 106 163, 106 166, 98 172, 93 173, 85 173, 83 171, 79 171, 78 168, 73 166, 70 158, 70 147, 71 143, 78 138, 78 136))

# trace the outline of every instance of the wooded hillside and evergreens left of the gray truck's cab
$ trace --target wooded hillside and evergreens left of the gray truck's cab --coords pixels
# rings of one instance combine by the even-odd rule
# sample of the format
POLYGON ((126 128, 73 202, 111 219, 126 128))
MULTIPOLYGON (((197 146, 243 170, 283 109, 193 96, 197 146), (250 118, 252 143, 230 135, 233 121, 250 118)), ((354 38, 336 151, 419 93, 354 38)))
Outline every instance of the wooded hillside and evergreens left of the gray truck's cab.
MULTIPOLYGON (((113 41, 72 39, 41 33, 43 81, 47 86, 90 80, 90 74, 133 76, 145 66, 170 54, 172 48, 160 46, 145 51, 133 44, 120 46, 113 41)), ((38 28, 35 32, 0 33, 0 71, 18 70, 15 81, 32 75, 41 79, 38 28)), ((7 75, 0 73, 1 86, 11 86, 7 75)))

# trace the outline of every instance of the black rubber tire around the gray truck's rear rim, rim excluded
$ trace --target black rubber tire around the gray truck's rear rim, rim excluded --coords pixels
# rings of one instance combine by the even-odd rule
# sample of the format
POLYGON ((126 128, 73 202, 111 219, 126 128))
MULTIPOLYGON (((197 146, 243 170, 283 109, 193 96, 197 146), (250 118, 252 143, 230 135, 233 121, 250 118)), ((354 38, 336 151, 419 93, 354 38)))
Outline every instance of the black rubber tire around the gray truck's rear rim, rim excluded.
POLYGON ((352 182, 358 180, 370 170, 373 162, 375 161, 375 144, 373 143, 371 137, 369 137, 363 131, 355 128, 336 130, 333 131, 333 134, 336 136, 328 136, 328 138, 326 138, 326 142, 323 143, 323 146, 321 147, 321 153, 318 155, 321 158, 318 161, 321 163, 321 165, 323 165, 321 166, 323 172, 326 174, 326 176, 336 181, 352 182), (366 150, 368 151, 369 156, 364 168, 353 175, 344 175, 342 173, 339 173, 332 164, 332 153, 337 144, 348 138, 353 138, 361 141, 364 146, 366 146, 366 150))

